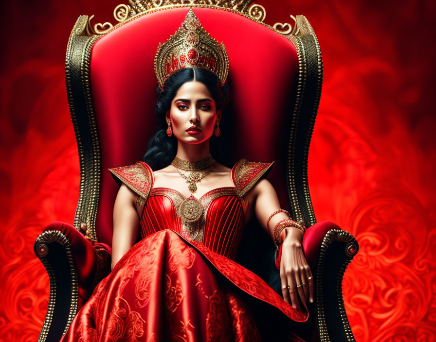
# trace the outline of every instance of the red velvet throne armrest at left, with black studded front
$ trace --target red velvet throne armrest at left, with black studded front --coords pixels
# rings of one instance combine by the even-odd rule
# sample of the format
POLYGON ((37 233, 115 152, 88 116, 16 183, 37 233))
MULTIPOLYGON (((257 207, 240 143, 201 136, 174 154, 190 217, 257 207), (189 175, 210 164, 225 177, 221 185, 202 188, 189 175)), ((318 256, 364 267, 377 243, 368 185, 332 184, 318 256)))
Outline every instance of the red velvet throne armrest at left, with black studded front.
POLYGON ((50 298, 38 341, 59 341, 98 282, 110 273, 110 247, 72 225, 48 224, 34 245, 50 278, 50 298))

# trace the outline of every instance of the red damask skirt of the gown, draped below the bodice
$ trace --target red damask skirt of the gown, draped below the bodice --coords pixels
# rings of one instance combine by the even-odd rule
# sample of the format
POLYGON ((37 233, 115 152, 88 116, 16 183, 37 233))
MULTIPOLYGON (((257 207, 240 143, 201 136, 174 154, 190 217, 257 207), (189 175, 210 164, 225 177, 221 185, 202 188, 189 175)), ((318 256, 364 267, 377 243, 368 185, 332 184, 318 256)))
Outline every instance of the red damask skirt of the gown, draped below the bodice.
POLYGON ((80 309, 66 341, 303 341, 308 313, 260 277, 165 229, 135 244, 80 309))

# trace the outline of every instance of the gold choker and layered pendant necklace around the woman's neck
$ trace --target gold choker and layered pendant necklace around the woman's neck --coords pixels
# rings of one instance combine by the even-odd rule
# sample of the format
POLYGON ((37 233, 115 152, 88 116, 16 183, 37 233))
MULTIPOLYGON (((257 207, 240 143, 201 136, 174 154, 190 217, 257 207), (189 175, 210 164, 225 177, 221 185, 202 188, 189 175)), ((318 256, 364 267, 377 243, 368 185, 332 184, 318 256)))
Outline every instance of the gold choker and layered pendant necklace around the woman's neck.
POLYGON ((192 193, 195 193, 197 191, 197 183, 200 182, 200 180, 204 177, 206 177, 209 172, 212 170, 212 168, 209 168, 208 170, 204 170, 215 162, 215 159, 212 157, 212 155, 208 156, 206 159, 200 160, 198 162, 192 163, 186 160, 182 160, 180 158, 175 157, 173 162, 171 163, 176 167, 177 172, 186 179, 186 182, 189 183, 188 189, 192 193), (182 170, 179 170, 182 169, 182 170), (193 171, 193 172, 186 172, 186 171, 193 171))

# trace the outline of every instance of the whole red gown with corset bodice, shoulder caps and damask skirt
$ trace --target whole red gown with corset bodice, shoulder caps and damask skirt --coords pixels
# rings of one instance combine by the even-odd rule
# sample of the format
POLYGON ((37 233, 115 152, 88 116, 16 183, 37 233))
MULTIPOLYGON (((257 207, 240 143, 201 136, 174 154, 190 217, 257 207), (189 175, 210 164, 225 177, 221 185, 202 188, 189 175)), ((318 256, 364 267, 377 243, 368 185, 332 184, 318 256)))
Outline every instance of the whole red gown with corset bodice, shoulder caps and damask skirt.
POLYGON ((141 240, 98 284, 63 342, 302 341, 291 324, 305 322, 307 310, 292 308, 233 261, 246 193, 272 165, 241 159, 232 168, 234 187, 199 199, 153 188, 144 162, 110 169, 138 194, 141 240))

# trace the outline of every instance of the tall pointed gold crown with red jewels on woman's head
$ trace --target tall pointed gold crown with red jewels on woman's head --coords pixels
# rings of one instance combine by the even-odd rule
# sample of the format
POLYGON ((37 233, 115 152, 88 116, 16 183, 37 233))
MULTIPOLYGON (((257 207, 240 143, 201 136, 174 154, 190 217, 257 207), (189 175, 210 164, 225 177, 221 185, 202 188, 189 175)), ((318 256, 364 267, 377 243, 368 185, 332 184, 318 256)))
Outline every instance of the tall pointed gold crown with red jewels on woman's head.
POLYGON ((203 68, 215 73, 224 85, 229 73, 229 56, 224 44, 212 38, 200 25, 192 8, 182 26, 164 43, 159 43, 154 70, 161 89, 175 71, 203 68))

